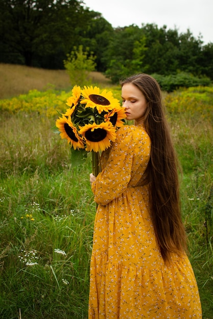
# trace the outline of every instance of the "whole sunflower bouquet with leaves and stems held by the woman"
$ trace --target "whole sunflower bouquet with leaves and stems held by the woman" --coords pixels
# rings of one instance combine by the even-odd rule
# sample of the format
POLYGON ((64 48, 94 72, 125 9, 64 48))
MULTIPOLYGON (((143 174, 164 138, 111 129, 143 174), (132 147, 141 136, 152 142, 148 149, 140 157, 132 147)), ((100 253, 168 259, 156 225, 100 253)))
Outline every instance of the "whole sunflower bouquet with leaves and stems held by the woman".
POLYGON ((116 129, 124 125, 124 108, 112 92, 98 87, 74 86, 66 104, 68 109, 56 120, 62 139, 67 139, 72 151, 72 165, 82 163, 87 152, 92 152, 92 170, 97 176, 100 152, 116 139, 116 129))

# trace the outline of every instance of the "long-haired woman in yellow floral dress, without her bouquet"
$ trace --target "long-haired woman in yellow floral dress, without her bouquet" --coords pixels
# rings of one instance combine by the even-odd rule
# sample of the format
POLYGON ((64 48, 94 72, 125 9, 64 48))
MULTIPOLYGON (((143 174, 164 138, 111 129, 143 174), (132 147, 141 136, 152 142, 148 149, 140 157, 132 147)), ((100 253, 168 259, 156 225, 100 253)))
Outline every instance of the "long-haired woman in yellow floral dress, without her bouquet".
POLYGON ((94 222, 91 318, 201 318, 195 276, 185 254, 177 159, 155 79, 122 83, 127 120, 90 174, 94 222))

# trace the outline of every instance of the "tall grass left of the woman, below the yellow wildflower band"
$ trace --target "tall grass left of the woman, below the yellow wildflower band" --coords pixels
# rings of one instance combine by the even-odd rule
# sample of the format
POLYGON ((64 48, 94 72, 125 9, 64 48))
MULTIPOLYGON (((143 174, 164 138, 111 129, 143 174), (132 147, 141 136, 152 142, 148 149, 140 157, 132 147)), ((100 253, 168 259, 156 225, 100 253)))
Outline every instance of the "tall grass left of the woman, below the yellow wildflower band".
POLYGON ((86 318, 96 210, 90 158, 70 169, 54 119, 19 113, 1 122, 0 317, 86 318))

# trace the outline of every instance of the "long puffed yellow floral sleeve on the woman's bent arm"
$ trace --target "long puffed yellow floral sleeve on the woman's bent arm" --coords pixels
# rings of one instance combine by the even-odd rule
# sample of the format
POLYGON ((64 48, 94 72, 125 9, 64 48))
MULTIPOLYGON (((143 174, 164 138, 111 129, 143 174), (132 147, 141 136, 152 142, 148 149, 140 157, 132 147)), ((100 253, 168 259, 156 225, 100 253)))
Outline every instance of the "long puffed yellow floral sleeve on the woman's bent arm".
POLYGON ((117 131, 105 168, 92 183, 94 201, 98 204, 106 205, 126 190, 131 178, 133 148, 130 127, 121 127, 117 131))

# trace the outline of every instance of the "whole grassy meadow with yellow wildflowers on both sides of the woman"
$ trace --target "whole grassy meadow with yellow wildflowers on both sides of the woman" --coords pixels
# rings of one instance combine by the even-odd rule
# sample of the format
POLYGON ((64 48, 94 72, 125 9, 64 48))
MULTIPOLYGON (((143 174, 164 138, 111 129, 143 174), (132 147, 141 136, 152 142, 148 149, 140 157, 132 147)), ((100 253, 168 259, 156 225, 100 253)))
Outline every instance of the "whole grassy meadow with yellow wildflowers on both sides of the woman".
MULTIPOLYGON (((12 90, 12 71, 7 83, 1 76, 0 317, 86 319, 96 214, 89 183, 91 156, 72 168, 67 142, 52 129, 71 87, 66 74, 59 81, 60 71, 52 77, 50 70, 5 67, 18 67, 20 89, 12 90), (46 78, 45 84, 28 86, 34 71, 40 82, 46 78)), ((1 74, 6 72, 2 69, 0 65, 1 74)), ((120 99, 120 88, 110 87, 100 74, 93 76, 95 84, 120 99)), ((163 96, 182 167, 188 256, 203 319, 213 319, 213 87, 163 96)))

